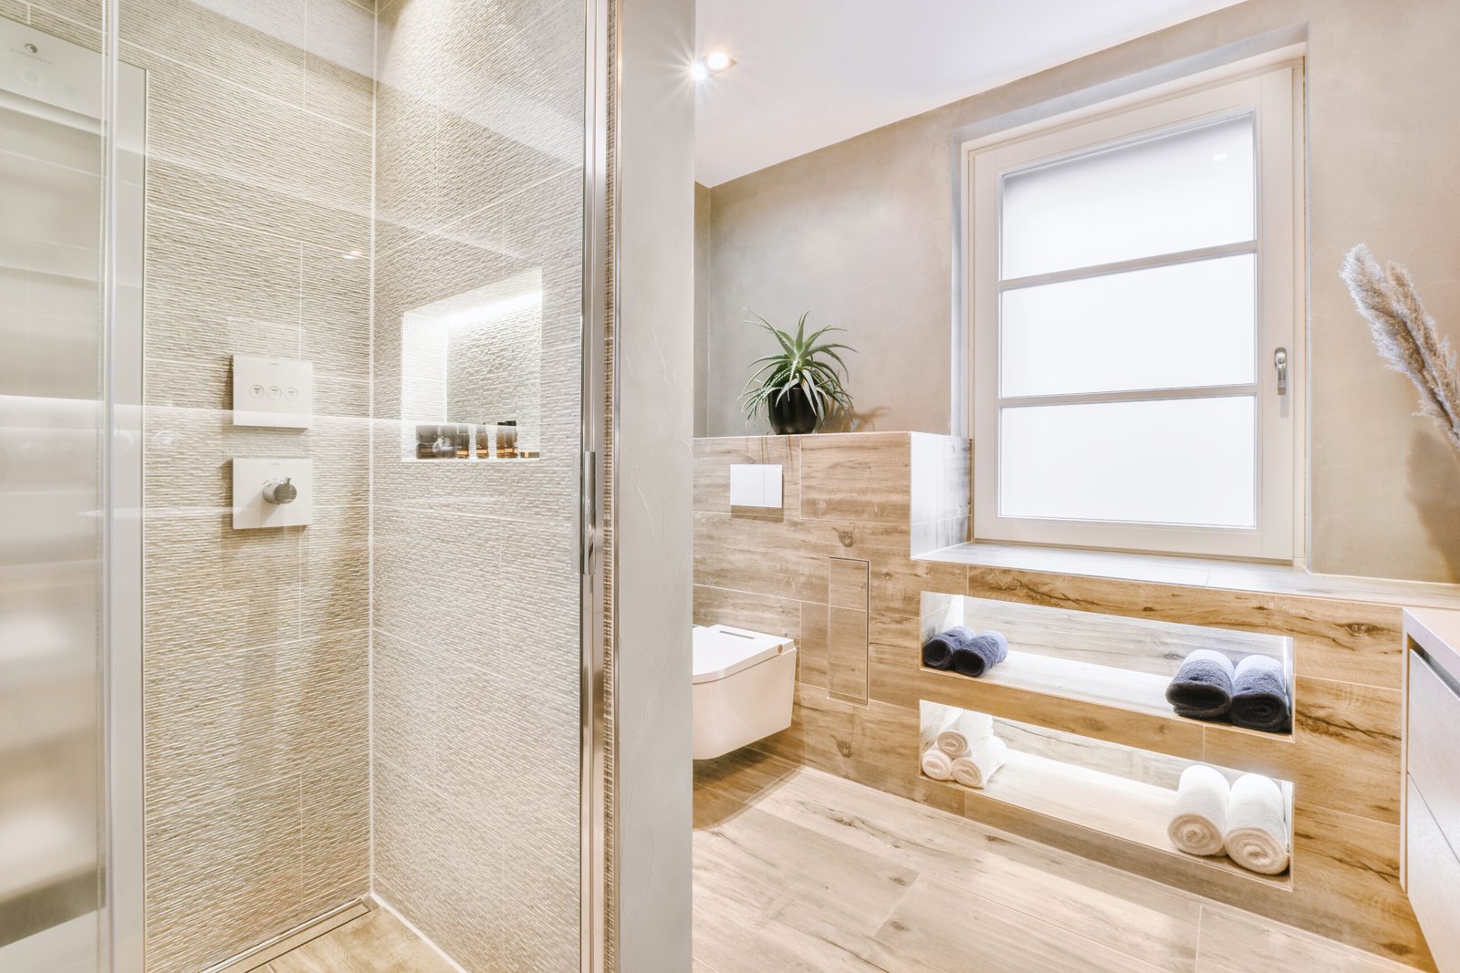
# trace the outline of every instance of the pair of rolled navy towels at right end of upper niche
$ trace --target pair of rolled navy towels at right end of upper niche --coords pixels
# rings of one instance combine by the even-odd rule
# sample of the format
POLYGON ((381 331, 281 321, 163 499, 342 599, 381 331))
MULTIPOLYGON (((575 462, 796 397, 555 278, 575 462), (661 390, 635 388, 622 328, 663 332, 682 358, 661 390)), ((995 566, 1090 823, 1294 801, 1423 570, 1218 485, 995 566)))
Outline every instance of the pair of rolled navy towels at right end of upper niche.
POLYGON ((1167 702, 1178 716, 1228 719, 1273 734, 1292 729, 1288 678, 1282 662, 1267 655, 1248 655, 1232 665, 1222 652, 1197 649, 1167 687, 1167 702))

